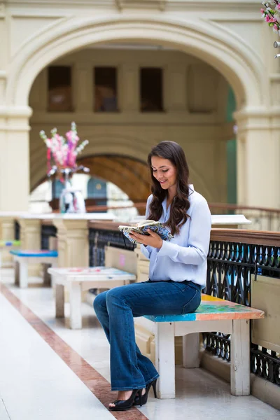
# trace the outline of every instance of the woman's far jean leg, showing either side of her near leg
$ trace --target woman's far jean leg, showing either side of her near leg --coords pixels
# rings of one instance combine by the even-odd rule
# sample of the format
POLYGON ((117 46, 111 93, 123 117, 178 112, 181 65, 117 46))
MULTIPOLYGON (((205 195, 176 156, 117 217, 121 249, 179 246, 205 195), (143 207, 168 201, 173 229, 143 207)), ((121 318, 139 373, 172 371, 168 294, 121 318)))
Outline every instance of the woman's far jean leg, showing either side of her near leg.
MULTIPOLYGON (((94 299, 93 306, 94 306, 94 311, 97 314, 97 318, 99 322, 101 323, 102 328, 104 329, 105 335, 110 343, 110 318, 109 318, 109 313, 108 313, 107 305, 106 305, 106 294, 107 294, 107 291, 97 295, 97 297, 95 297, 94 299)), ((135 338, 134 338, 134 342, 135 342, 135 338)), ((159 375, 153 363, 151 362, 151 360, 141 353, 136 343, 135 343, 135 349, 136 349, 136 356, 137 356, 137 366, 139 370, 141 371, 142 376, 144 377, 144 382, 146 386, 155 378, 157 378, 159 375)), ((111 357, 114 358, 114 355, 112 354, 111 357)))

